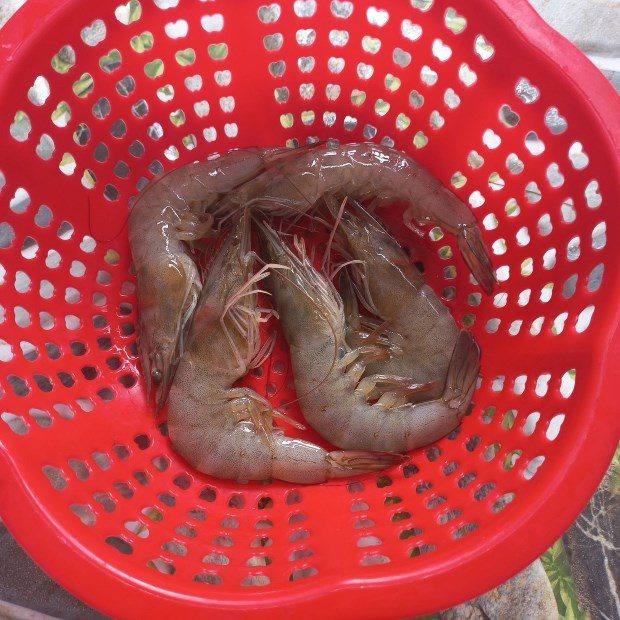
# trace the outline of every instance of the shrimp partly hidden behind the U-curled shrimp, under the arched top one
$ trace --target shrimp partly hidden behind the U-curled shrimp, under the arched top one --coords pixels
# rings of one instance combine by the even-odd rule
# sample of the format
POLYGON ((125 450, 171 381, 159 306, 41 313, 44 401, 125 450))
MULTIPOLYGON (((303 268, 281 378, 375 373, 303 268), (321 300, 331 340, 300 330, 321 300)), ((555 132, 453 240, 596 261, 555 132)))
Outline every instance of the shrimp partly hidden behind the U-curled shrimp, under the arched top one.
POLYGON ((390 350, 389 359, 369 364, 366 374, 385 375, 386 385, 390 377, 396 383, 398 377, 411 377, 429 385, 411 394, 410 400, 438 398, 458 339, 450 311, 397 241, 359 204, 349 200, 355 213, 340 214, 337 201, 327 196, 325 200, 337 217, 344 237, 341 251, 350 263, 342 271, 340 287, 347 340, 352 346, 376 341, 390 350), (359 313, 356 296, 374 318, 359 313))

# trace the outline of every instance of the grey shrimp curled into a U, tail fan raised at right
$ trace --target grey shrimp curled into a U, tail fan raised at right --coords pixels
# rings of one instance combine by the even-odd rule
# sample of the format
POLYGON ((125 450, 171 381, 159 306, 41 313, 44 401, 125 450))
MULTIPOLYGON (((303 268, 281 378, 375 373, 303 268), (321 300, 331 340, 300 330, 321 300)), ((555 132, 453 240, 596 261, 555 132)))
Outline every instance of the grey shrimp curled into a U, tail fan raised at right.
MULTIPOLYGON (((290 347, 295 387, 306 420, 340 448, 405 452, 443 437, 458 426, 471 401, 480 351, 471 334, 460 332, 442 381, 441 396, 411 403, 429 384, 410 375, 364 377, 369 364, 386 359, 381 344, 347 343, 344 307, 338 292, 308 260, 303 243, 294 253, 266 225, 261 238, 270 260, 289 268, 270 278, 274 306, 290 347)), ((371 271, 374 265, 369 265, 371 271)), ((384 297, 402 277, 384 272, 384 297)), ((412 294, 411 290, 409 294, 412 294)), ((376 300, 381 312, 382 300, 376 300)), ((410 322, 417 316, 407 312, 410 322)))

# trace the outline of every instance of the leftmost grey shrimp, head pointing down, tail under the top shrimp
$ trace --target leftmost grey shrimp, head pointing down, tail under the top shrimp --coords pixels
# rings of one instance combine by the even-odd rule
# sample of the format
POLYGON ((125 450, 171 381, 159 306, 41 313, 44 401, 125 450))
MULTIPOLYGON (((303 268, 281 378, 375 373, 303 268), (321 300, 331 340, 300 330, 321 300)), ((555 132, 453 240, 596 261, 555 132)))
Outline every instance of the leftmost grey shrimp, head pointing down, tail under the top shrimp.
POLYGON ((151 182, 129 216, 137 277, 138 349, 147 394, 161 409, 201 290, 189 243, 207 235, 211 207, 290 150, 246 149, 177 168, 151 182))

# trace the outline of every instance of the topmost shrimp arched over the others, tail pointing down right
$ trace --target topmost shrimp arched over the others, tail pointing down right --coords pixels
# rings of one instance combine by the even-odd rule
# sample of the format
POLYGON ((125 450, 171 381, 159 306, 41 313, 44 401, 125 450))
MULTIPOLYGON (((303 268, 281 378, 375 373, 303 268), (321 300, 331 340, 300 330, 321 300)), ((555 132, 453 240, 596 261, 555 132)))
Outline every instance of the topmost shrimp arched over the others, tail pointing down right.
POLYGON ((226 196, 218 210, 257 205, 269 215, 305 213, 325 194, 366 202, 405 202, 405 223, 430 223, 455 235, 480 286, 491 293, 496 280, 482 233, 471 210, 413 159, 370 143, 322 147, 265 171, 226 196))

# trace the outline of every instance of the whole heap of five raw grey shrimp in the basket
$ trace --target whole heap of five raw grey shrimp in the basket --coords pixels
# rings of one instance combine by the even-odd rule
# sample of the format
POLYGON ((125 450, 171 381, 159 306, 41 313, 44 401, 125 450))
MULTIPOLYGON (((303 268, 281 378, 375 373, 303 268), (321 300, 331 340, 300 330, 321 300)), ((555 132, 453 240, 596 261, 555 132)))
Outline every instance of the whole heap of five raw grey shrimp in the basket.
POLYGON ((385 146, 237 150, 141 192, 129 220, 140 360, 148 398, 167 406, 172 446, 193 467, 320 483, 403 463, 459 425, 480 349, 381 223, 395 202, 406 204, 407 226, 455 235, 492 292, 472 212, 385 146), (328 235, 318 266, 303 237, 286 232, 304 220, 328 235), (261 325, 274 318, 305 421, 338 450, 288 437, 275 419, 299 423, 238 387, 269 357, 274 338, 263 342, 261 325))

